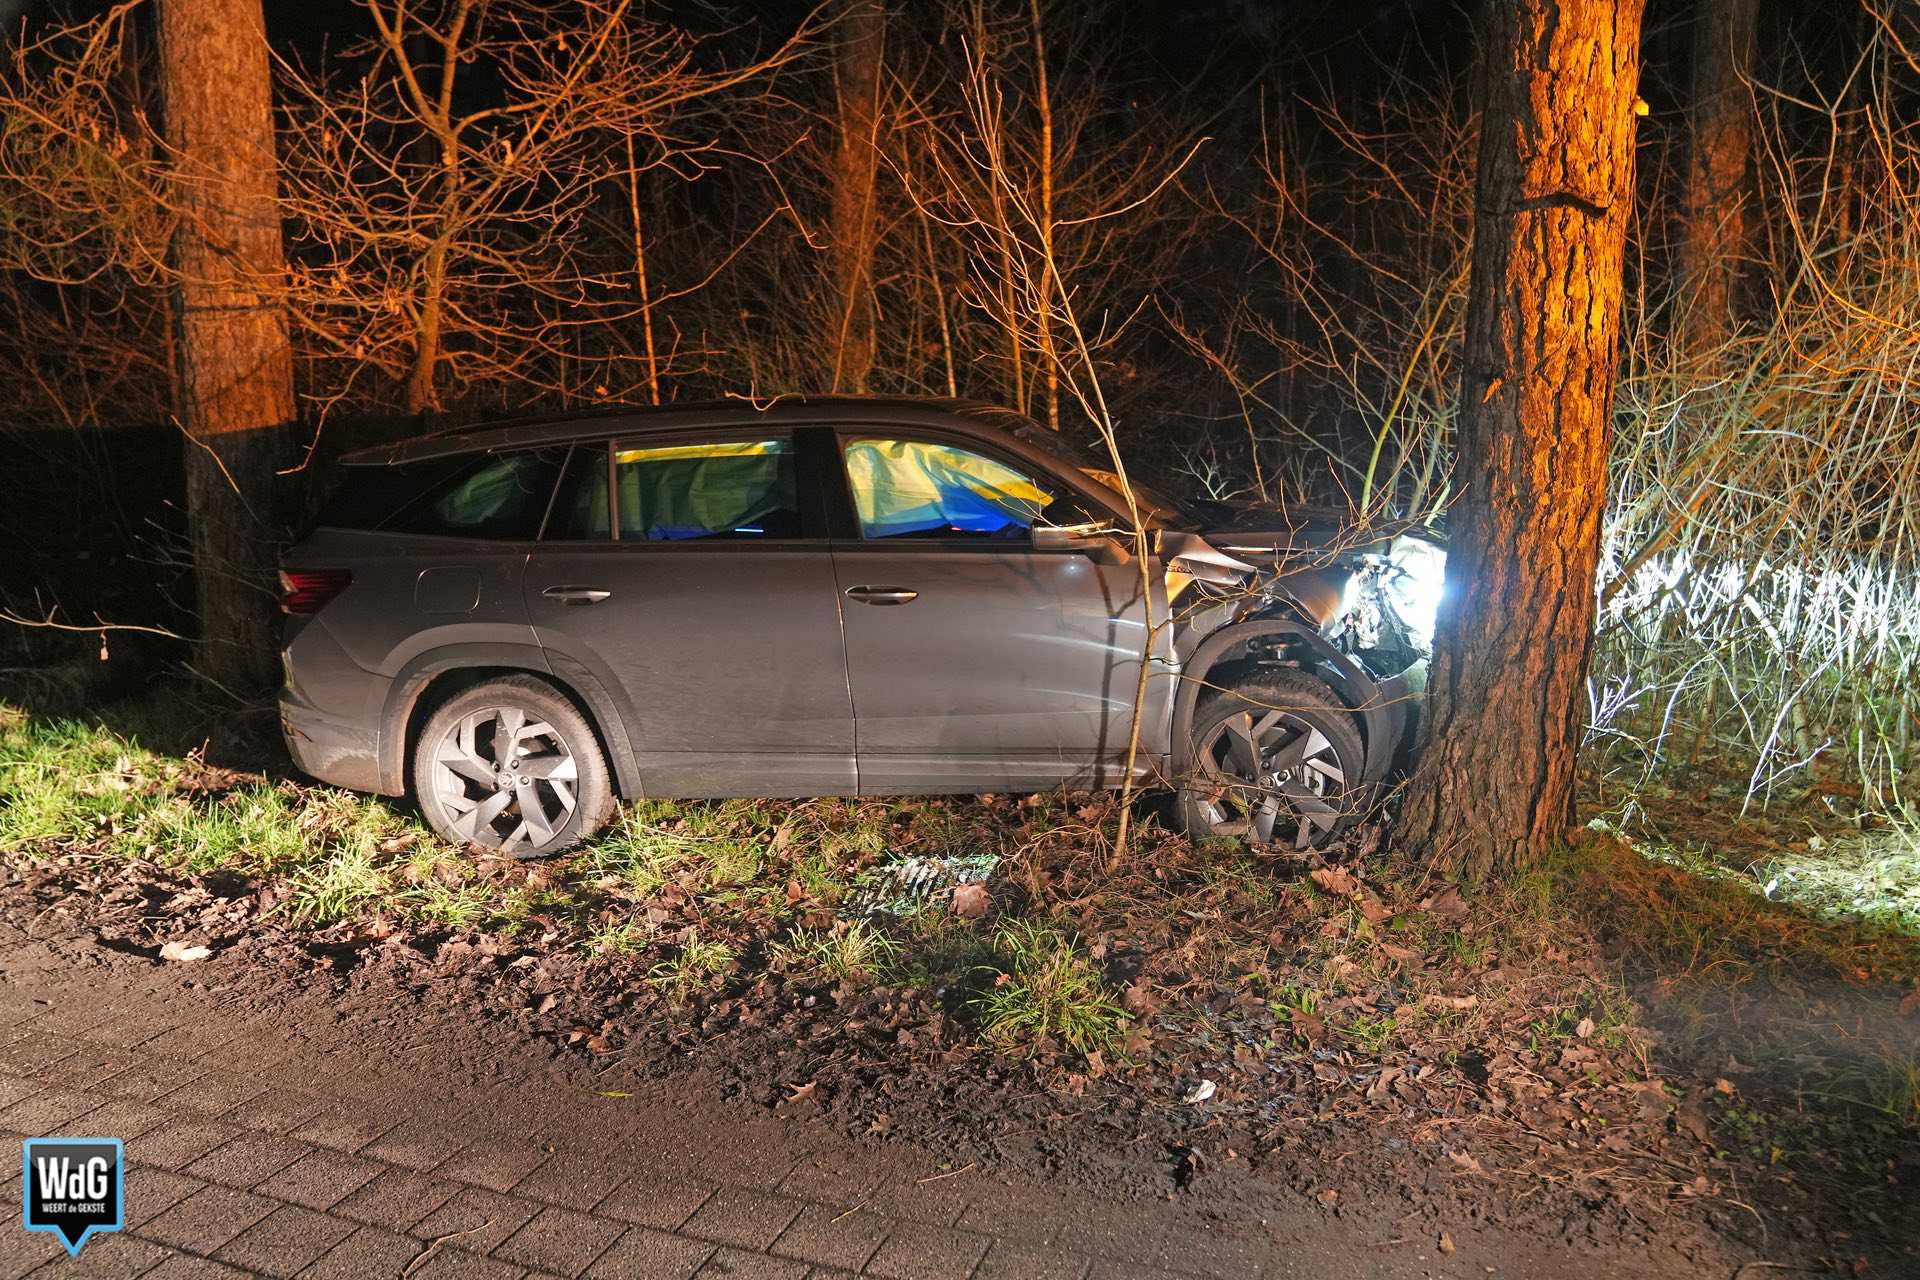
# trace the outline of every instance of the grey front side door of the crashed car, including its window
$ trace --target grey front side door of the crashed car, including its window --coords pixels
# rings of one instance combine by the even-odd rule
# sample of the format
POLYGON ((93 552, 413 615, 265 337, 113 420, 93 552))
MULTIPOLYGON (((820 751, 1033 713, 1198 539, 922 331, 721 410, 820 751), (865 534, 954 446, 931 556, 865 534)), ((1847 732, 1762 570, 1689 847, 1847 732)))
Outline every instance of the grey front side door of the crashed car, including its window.
MULTIPOLYGON (((833 574, 860 791, 1116 781, 1148 641, 1119 543, 1035 547, 1035 524, 1087 512, 973 443, 841 432, 841 462, 858 537, 835 539, 833 574)), ((1169 681, 1148 685, 1156 723, 1169 681)))

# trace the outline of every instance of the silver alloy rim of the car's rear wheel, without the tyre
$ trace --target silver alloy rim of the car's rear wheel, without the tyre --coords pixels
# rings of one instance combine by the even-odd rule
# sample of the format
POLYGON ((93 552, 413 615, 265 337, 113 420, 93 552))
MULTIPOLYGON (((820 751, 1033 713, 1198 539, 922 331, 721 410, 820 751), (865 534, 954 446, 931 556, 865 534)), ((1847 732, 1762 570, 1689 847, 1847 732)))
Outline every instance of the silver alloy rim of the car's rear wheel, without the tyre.
POLYGON ((442 735, 432 777, 457 839, 524 856, 566 831, 580 762, 545 720, 486 706, 442 735))

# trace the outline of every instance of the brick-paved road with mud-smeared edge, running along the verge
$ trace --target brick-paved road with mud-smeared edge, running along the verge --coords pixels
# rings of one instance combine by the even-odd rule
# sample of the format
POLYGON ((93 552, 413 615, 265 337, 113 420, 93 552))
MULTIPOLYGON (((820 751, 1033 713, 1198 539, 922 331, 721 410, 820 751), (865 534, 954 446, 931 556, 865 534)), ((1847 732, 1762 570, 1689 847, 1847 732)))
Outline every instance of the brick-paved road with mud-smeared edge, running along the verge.
POLYGON ((1697 1274, 1471 1222, 1440 1255, 1413 1188, 1329 1219, 1252 1182, 1223 1207, 991 1176, 555 1057, 453 1004, 286 994, 238 956, 159 965, 0 919, 0 1203, 19 1140, 48 1134, 125 1140, 125 1230, 67 1259, 6 1209, 0 1280, 1697 1274))

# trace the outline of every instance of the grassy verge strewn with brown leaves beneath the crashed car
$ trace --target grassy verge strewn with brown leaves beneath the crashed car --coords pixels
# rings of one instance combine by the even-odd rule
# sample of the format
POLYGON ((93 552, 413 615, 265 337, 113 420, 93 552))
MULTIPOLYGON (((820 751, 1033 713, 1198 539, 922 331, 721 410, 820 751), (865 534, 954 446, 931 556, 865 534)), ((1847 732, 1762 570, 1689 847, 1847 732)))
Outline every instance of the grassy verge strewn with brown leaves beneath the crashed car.
MULTIPOLYGON (((1238 846, 1148 829, 1116 873, 1098 841, 1102 802, 1087 810, 1085 798, 641 802, 572 856, 511 864, 451 848, 382 800, 146 745, 182 716, 159 702, 136 718, 156 727, 108 729, 0 708, 0 854, 240 875, 276 902, 275 921, 301 929, 384 917, 518 933, 630 963, 636 983, 682 1007, 781 975, 912 988, 991 1048, 1039 1057, 1085 1057, 1131 1034, 1096 960, 1116 936, 1144 958, 1127 981, 1160 992, 1162 1025, 1225 1034, 1233 1017, 1177 992, 1236 990, 1269 1013, 1263 1042, 1288 1054, 1336 1044, 1446 1059, 1511 1032, 1540 1055, 1582 1044, 1645 1059, 1653 1015, 1672 1027, 1667 1052, 1724 1061, 1730 1027, 1782 1029, 1782 1052, 1786 1031, 1803 1031, 1778 996, 1757 1004, 1770 984, 1812 984, 1834 1009, 1851 1006, 1830 988, 1920 984, 1912 823, 1782 844, 1751 867, 1674 844, 1647 856, 1590 831, 1524 875, 1469 890, 1463 919, 1419 910, 1438 887, 1384 858, 1356 867, 1367 885, 1352 896, 1277 875, 1238 846), (981 854, 1002 858, 1006 887, 989 919, 937 902, 885 921, 835 913, 883 881, 891 858, 981 854), (1054 919, 1062 902, 1073 902, 1071 931, 1054 919), (1569 963, 1599 948, 1613 967, 1569 963)), ((1912 1119, 1920 1046, 1849 1046, 1834 1088, 1912 1119)))

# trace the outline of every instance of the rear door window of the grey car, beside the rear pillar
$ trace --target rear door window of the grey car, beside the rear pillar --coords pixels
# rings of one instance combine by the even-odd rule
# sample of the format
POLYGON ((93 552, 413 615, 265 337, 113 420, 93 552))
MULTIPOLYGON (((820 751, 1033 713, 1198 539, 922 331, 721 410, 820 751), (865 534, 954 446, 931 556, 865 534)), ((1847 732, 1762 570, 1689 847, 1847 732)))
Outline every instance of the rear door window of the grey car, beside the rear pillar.
POLYGON ((612 486, 620 541, 801 535, 799 470, 785 439, 616 443, 612 486))

